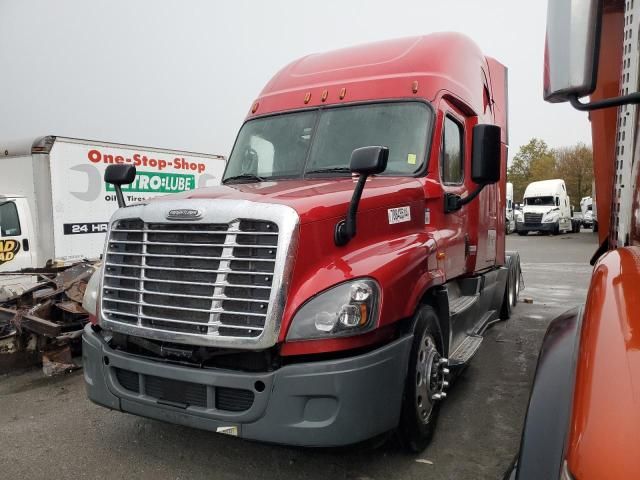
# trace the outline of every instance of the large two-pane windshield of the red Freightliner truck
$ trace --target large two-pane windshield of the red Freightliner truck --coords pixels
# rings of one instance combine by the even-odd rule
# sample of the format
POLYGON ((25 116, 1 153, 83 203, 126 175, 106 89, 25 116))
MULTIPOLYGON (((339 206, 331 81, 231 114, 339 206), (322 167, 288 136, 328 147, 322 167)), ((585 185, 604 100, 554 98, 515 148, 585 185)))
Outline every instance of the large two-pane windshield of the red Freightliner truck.
POLYGON ((356 148, 383 145, 383 175, 413 175, 425 161, 431 110, 419 102, 286 113, 250 120, 238 134, 223 182, 350 175, 356 148))

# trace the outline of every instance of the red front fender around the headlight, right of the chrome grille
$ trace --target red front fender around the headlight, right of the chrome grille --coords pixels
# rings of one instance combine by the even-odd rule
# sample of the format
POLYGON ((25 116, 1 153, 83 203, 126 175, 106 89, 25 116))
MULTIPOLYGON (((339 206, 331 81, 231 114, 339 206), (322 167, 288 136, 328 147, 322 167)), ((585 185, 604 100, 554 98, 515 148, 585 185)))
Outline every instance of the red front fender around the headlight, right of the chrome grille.
MULTIPOLYGON (((381 287, 377 330, 388 327, 386 330, 389 331, 392 324, 413 315, 429 287, 443 282, 444 277, 435 259, 436 242, 425 231, 423 223, 415 221, 392 231, 393 226, 373 221, 367 223, 369 213, 363 212, 358 218, 358 235, 344 248, 327 245, 326 239, 333 238, 334 219, 301 229, 294 278, 280 332, 281 342, 286 340, 295 312, 310 298, 338 283, 358 277, 376 280, 381 287), (319 242, 318 239, 325 241, 319 242)), ((331 340, 332 344, 326 351, 354 348, 379 340, 373 335, 368 341, 367 335, 331 340), (337 343, 345 345, 339 348, 337 343)), ((323 340, 305 343, 310 342, 317 345, 323 340)), ((313 348, 313 351, 318 349, 313 348)))

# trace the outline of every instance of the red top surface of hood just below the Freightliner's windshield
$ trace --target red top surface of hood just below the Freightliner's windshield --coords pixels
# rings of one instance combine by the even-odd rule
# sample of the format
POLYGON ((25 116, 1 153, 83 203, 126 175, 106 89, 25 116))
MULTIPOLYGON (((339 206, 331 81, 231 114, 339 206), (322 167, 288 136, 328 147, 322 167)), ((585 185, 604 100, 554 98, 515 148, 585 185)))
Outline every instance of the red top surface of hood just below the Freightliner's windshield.
MULTIPOLYGON (((162 201, 237 199, 276 203, 293 208, 300 216, 300 222, 308 223, 326 218, 343 217, 347 212, 355 186, 356 179, 342 177, 275 180, 199 188, 155 199, 162 201)), ((424 191, 415 178, 371 177, 364 187, 358 211, 407 205, 420 199, 424 199, 424 191)))

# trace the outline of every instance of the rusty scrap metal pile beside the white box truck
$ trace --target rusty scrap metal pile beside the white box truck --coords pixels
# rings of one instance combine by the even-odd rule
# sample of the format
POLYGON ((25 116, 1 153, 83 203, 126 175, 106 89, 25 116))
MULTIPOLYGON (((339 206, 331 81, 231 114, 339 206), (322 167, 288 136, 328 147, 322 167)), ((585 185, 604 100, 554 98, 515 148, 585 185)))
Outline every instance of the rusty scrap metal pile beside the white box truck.
POLYGON ((1 274, 27 281, 0 289, 0 373, 39 362, 49 376, 79 368, 72 357, 80 354, 89 319, 82 297, 97 266, 81 261, 1 274))

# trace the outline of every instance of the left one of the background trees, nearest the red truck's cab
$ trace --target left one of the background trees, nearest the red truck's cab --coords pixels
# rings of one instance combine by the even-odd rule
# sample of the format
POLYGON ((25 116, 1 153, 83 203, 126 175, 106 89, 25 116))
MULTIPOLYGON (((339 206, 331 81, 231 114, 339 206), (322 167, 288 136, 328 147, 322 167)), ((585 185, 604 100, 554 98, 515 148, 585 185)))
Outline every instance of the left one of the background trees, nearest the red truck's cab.
POLYGON ((513 199, 522 200, 531 182, 556 178, 556 158, 544 140, 532 138, 522 145, 507 169, 507 181, 513 183, 513 199))

